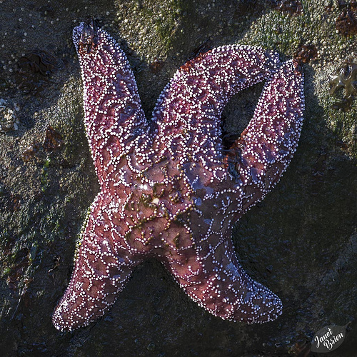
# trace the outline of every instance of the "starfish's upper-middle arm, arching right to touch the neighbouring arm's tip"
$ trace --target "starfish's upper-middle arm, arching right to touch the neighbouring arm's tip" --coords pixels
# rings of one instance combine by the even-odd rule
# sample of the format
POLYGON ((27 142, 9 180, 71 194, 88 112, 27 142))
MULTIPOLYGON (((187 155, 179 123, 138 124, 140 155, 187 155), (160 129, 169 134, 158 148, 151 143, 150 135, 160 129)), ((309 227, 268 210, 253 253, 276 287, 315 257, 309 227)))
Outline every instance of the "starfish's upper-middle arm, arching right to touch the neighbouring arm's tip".
POLYGON ((278 54, 253 46, 221 46, 188 61, 167 84, 154 109, 163 156, 221 161, 221 113, 228 99, 271 76, 278 54))

